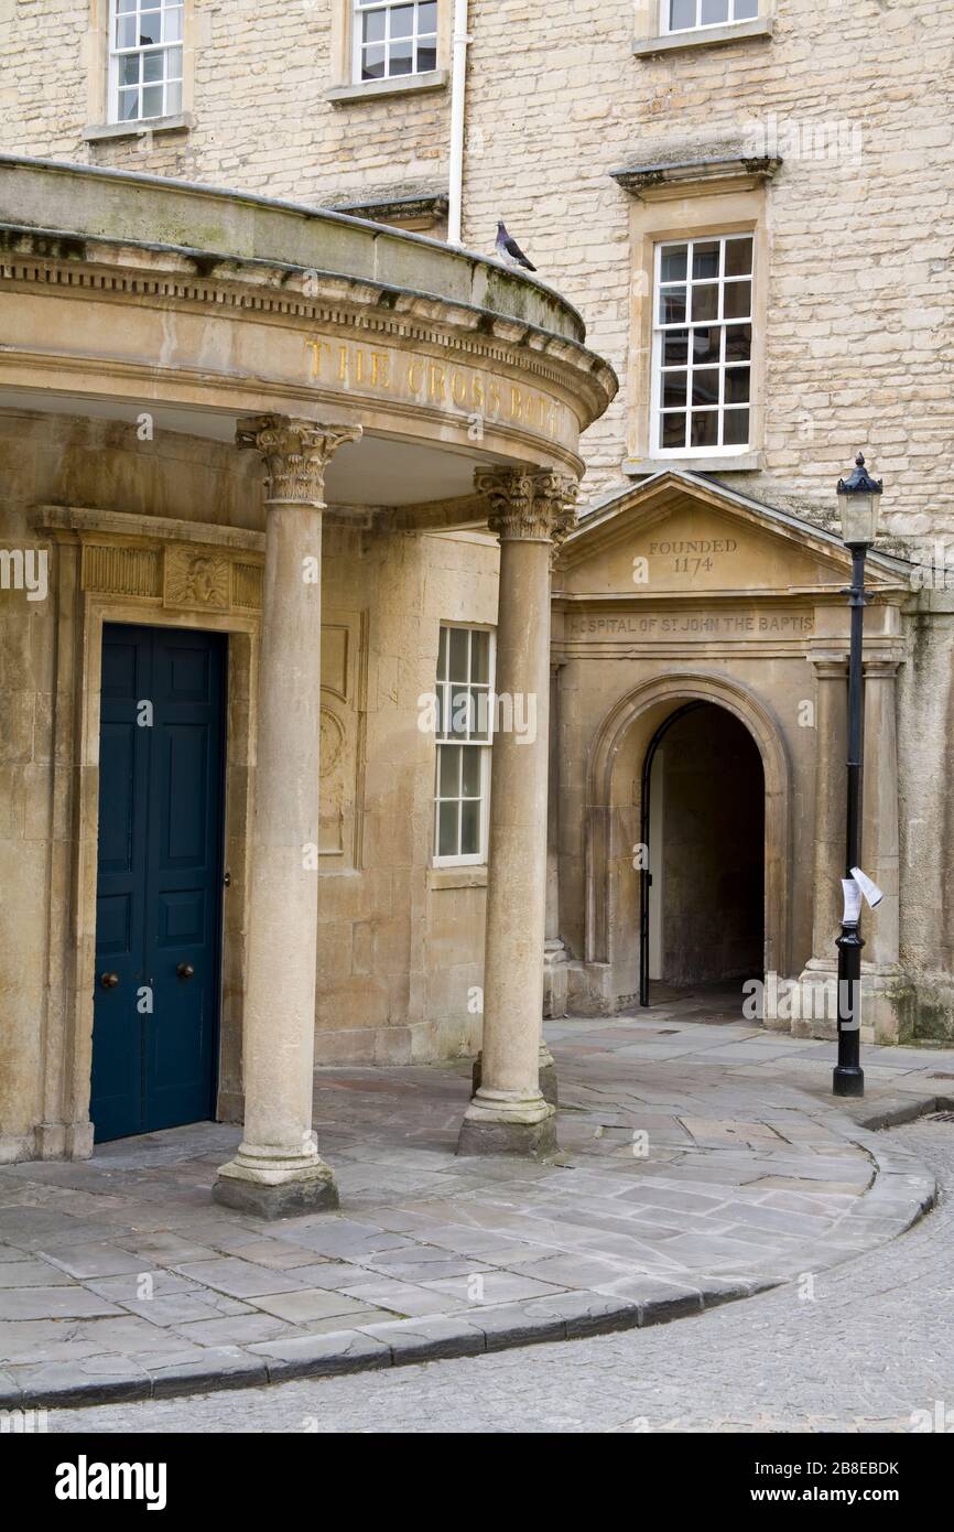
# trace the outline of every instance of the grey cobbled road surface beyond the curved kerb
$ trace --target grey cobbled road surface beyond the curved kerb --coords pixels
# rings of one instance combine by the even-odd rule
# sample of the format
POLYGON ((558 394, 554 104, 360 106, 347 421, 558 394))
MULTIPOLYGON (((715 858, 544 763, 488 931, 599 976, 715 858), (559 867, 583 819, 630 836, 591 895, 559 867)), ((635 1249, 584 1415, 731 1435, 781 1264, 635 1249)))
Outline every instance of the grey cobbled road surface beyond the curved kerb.
POLYGON ((954 1420, 954 1123, 885 1138, 943 1187, 880 1250, 692 1321, 354 1377, 52 1411, 52 1431, 911 1431, 954 1420), (916 1296, 914 1296, 916 1295, 916 1296))

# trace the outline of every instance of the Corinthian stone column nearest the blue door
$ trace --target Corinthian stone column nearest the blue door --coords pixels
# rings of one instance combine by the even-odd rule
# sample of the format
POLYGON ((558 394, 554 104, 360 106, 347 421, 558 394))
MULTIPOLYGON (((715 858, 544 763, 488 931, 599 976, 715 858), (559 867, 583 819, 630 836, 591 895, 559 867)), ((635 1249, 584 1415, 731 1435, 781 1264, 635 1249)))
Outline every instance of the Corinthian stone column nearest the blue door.
POLYGON ((245 1129, 213 1196, 260 1218, 337 1207, 311 1126, 319 921, 325 467, 360 426, 259 415, 237 443, 266 467, 265 593, 248 974, 245 1129))

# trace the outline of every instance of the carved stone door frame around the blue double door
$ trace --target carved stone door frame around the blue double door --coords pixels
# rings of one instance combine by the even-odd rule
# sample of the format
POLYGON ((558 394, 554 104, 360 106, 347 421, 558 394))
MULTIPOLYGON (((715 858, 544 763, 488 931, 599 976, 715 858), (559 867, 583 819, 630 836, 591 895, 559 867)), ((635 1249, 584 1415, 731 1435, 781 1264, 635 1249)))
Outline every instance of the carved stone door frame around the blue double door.
POLYGON ((100 689, 103 625, 193 628, 228 634, 224 729, 224 864, 216 1117, 240 1120, 243 931, 250 887, 251 804, 262 533, 172 522, 149 535, 147 518, 121 512, 43 507, 37 518, 55 547, 54 651, 55 830, 49 879, 47 994, 41 1022, 43 1123, 38 1158, 89 1158, 96 869, 100 809, 100 689), (162 536, 162 532, 167 535, 162 536), (170 536, 170 532, 179 536, 170 536), (188 541, 185 541, 188 539, 188 541), (228 610, 168 599, 164 559, 213 545, 231 564, 228 610), (95 556, 95 559, 93 559, 95 556), (123 558, 126 556, 126 558, 123 558), (115 559, 115 562, 113 562, 115 559), (155 576, 144 576, 153 561, 155 576), (92 564, 92 568, 89 567, 92 564), (121 585, 115 593, 98 585, 121 585), (236 599, 237 597, 237 599, 236 599))

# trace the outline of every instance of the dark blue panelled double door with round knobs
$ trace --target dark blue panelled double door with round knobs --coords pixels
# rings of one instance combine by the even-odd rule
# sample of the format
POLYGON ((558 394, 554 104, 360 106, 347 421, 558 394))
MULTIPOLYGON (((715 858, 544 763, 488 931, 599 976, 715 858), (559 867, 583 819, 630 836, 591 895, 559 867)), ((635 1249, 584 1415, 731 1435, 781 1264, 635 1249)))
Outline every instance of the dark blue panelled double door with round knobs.
POLYGON ((219 634, 103 631, 98 1143, 214 1115, 224 671, 219 634))

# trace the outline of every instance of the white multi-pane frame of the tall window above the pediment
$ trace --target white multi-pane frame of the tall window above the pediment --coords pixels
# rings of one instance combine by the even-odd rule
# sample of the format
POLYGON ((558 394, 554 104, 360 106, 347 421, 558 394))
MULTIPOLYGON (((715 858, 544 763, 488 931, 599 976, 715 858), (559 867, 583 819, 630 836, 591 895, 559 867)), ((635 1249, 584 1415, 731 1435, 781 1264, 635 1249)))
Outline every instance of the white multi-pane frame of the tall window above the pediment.
MULTIPOLYGON (((753 231, 749 233, 746 230, 741 230, 738 233, 727 233, 727 234, 691 234, 691 236, 688 236, 684 239, 663 239, 663 241, 657 242, 655 250, 654 250, 654 274, 652 274, 652 360, 651 360, 651 365, 652 365, 652 389, 651 389, 651 401, 649 401, 649 455, 652 458, 711 458, 711 457, 732 458, 732 457, 740 457, 740 455, 752 450, 752 420, 753 420, 753 409, 755 409, 753 378, 755 378, 755 343, 756 343, 756 334, 755 334, 755 260, 756 260, 755 233, 753 231), (726 277, 726 274, 724 274, 724 247, 726 247, 726 242, 733 241, 733 239, 747 239, 750 242, 750 245, 752 245, 752 268, 750 268, 747 277, 735 277, 733 279, 733 277, 726 277), (663 409, 662 409, 662 395, 663 395, 663 336, 666 334, 668 329, 688 329, 689 331, 689 352, 691 352, 691 349, 692 349, 692 329, 697 328, 697 325, 694 325, 694 322, 692 322, 691 317, 688 317, 684 323, 672 322, 669 325, 663 325, 660 322, 660 277, 662 277, 663 253, 666 250, 678 250, 683 245, 686 247, 686 280, 684 280, 684 283, 677 283, 677 285, 684 286, 686 288, 686 294, 689 297, 691 288, 694 285, 694 282, 692 282, 692 253, 694 253, 694 248, 695 248, 695 245, 711 245, 711 244, 715 244, 715 241, 718 241, 720 247, 721 247, 721 250, 720 250, 720 276, 718 276, 718 279, 700 277, 700 279, 697 279, 695 285, 704 285, 704 283, 711 285, 712 280, 718 282, 718 313, 721 316, 723 314, 723 306, 724 306, 723 305, 724 288, 727 285, 733 283, 733 282, 744 282, 744 280, 747 280, 749 282, 749 316, 747 317, 744 317, 744 316, 732 316, 730 319, 720 317, 720 319, 714 319, 714 320, 698 320, 697 325, 698 325, 698 328, 712 328, 715 325, 715 326, 718 326, 723 331, 727 326, 730 326, 730 325, 749 325, 752 328, 752 343, 750 343, 750 348, 749 348, 749 360, 747 362, 735 362, 735 360, 726 362, 726 346, 724 346, 724 337, 723 337, 723 340, 720 340, 720 360, 718 360, 718 363, 704 363, 706 369, 718 366, 718 404, 717 404, 715 409, 712 409, 712 406, 700 406, 700 404, 697 404, 695 409, 700 411, 700 409, 709 408, 712 414, 718 414, 718 438, 720 438, 718 444, 717 446, 700 446, 700 447, 694 447, 694 446, 681 446, 681 447, 663 446, 663 409), (743 368, 743 366, 749 368, 749 400, 747 400, 746 404, 743 404, 743 403, 735 403, 733 404, 733 401, 729 401, 729 404, 726 404, 726 368, 727 366, 729 368, 743 368), (746 441, 741 441, 741 443, 730 441, 727 444, 723 444, 721 438, 724 435, 724 415, 726 415, 726 409, 732 409, 732 408, 747 409, 749 411, 749 434, 747 434, 746 441)), ((691 314, 691 308, 688 309, 688 313, 691 314)), ((678 371, 683 371, 683 369, 680 368, 678 371)), ((689 360, 686 362, 684 371, 686 371, 686 409, 684 409, 684 414, 691 415, 692 414, 692 408, 694 408, 692 406, 692 371, 694 371, 694 368, 692 368, 692 365, 691 365, 689 360)), ((700 368, 700 371, 701 371, 701 368, 700 368)), ((692 429, 691 427, 691 421, 688 421, 688 434, 691 434, 691 429, 692 429)))

